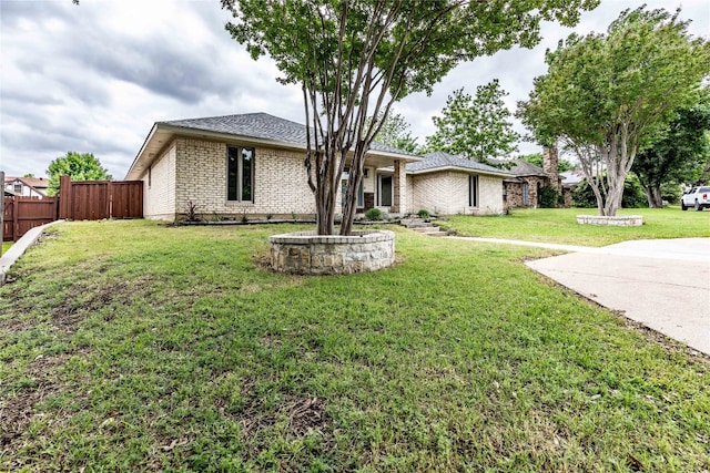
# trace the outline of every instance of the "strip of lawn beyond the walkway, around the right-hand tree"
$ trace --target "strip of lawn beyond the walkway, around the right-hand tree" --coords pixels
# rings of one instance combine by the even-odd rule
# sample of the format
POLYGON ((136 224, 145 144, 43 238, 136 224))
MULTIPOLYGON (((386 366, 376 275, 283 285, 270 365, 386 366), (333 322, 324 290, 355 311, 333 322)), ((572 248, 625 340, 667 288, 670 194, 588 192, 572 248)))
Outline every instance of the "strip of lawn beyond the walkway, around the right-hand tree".
POLYGON ((605 246, 629 239, 710 237, 710 212, 680 207, 625 208, 618 215, 642 215, 640 227, 578 225, 577 215, 597 215, 595 208, 536 208, 493 217, 454 216, 445 229, 460 236, 605 246))

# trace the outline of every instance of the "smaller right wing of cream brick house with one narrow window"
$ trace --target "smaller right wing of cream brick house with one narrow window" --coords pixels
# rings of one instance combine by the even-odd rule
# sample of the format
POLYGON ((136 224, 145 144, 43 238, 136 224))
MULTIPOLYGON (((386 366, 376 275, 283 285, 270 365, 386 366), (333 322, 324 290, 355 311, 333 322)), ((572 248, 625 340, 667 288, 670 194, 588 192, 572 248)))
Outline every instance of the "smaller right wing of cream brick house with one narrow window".
POLYGON ((497 215, 503 208, 503 182, 513 174, 444 152, 407 164, 413 212, 497 215))

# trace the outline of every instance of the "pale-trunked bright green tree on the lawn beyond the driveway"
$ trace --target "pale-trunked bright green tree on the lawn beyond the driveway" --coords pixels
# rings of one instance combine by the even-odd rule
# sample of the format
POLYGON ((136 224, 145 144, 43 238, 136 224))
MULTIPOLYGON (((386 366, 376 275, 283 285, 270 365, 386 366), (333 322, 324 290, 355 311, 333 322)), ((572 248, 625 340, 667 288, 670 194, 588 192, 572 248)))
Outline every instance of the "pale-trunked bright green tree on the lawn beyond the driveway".
POLYGON ((548 51, 548 73, 519 104, 538 141, 560 138, 577 153, 600 215, 616 215, 638 151, 709 73, 710 42, 690 37, 679 13, 641 7, 605 34, 571 34, 548 51))

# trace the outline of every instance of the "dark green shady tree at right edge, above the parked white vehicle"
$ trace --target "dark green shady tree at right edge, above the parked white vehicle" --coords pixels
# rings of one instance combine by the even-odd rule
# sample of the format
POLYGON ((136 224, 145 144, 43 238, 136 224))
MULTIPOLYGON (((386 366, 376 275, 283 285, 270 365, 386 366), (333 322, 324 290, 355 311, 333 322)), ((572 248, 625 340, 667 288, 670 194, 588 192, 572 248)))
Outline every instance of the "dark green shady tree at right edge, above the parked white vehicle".
POLYGON ((661 186, 694 183, 710 160, 710 90, 703 100, 678 111, 658 140, 641 151, 631 171, 646 192, 649 207, 662 207, 661 186))

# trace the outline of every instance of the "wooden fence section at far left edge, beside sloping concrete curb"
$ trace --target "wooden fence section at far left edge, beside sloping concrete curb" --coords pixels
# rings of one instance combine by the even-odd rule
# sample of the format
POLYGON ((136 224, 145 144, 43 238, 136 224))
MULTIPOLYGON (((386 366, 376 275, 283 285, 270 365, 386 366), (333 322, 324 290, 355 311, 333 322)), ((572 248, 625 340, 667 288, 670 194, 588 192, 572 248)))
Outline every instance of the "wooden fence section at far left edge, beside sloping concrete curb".
POLYGON ((2 239, 17 241, 28 230, 57 219, 57 197, 4 197, 2 239))

